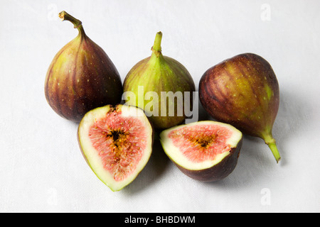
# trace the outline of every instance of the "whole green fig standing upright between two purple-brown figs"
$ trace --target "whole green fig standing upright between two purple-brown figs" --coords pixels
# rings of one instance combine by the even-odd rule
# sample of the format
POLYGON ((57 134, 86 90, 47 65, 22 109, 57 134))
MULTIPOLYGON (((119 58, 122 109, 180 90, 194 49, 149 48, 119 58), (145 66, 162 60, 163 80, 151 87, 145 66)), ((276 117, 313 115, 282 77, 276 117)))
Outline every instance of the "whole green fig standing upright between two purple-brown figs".
POLYGON ((156 33, 152 54, 138 62, 124 79, 126 104, 144 109, 156 129, 182 123, 196 91, 191 74, 180 62, 162 55, 162 33, 156 33), (126 98, 129 96, 129 98, 126 98))

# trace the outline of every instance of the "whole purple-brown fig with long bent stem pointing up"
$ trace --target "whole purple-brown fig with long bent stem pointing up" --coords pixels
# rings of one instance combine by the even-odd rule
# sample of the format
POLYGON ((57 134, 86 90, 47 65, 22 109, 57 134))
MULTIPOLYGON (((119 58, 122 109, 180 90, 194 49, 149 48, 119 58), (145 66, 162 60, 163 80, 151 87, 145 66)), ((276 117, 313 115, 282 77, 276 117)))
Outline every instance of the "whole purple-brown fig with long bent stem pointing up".
POLYGON ((65 11, 59 17, 73 23, 79 34, 53 58, 46 74, 46 100, 63 118, 80 122, 91 109, 118 104, 122 82, 105 51, 87 37, 81 21, 65 11))

